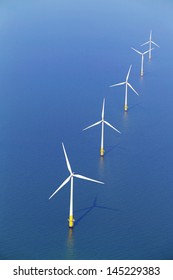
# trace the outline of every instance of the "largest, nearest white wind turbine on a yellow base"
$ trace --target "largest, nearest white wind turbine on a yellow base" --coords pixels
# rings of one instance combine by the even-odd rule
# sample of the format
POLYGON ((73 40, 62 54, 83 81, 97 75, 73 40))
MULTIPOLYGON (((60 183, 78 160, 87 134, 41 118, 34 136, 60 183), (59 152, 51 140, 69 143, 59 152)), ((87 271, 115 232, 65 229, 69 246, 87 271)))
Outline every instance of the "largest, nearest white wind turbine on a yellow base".
POLYGON ((103 182, 100 181, 96 181, 93 179, 90 179, 88 177, 79 175, 79 174, 75 174, 70 166, 68 157, 67 157, 67 153, 64 147, 64 144, 62 143, 62 147, 63 147, 63 151, 64 151, 64 155, 65 155, 65 159, 66 159, 66 164, 67 164, 67 169, 70 172, 70 176, 67 177, 67 179, 65 179, 65 181, 56 189, 56 191, 49 197, 49 199, 51 199, 60 189, 62 189, 69 181, 71 181, 71 188, 70 188, 70 211, 69 211, 69 227, 73 228, 74 226, 74 217, 73 217, 73 178, 79 178, 79 179, 84 179, 84 180, 88 180, 88 181, 92 181, 95 183, 99 183, 99 184, 104 184, 103 182))

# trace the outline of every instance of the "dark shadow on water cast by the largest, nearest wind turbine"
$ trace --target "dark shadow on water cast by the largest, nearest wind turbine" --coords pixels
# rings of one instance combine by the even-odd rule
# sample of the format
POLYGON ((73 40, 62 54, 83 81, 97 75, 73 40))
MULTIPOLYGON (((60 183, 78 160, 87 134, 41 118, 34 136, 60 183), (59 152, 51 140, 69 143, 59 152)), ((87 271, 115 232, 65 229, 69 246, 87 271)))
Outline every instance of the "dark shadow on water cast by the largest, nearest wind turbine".
POLYGON ((114 209, 114 208, 110 208, 110 207, 107 207, 107 206, 101 206, 101 205, 98 205, 97 204, 97 196, 95 197, 94 201, 93 201, 93 204, 89 207, 85 207, 85 208, 81 208, 79 210, 76 210, 76 212, 79 212, 79 211, 84 211, 84 213, 76 220, 75 222, 75 226, 77 226, 81 220, 83 220, 90 212, 92 212, 95 208, 99 208, 99 209, 104 209, 104 210, 110 210, 110 211, 118 211, 117 209, 114 209))

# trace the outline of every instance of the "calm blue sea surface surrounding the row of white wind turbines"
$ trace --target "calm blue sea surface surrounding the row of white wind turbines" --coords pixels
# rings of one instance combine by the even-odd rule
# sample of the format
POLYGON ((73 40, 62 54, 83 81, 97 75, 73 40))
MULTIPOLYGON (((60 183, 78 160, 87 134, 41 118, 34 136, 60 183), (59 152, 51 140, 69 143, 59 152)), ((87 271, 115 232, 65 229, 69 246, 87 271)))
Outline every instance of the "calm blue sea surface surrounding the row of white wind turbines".
POLYGON ((173 2, 0 3, 0 259, 173 259, 173 2), (152 60, 143 52, 152 29, 152 60), (130 64, 129 110, 123 82, 130 64), (105 119, 105 156, 100 157, 105 119), (68 228, 74 172, 74 229, 68 228))

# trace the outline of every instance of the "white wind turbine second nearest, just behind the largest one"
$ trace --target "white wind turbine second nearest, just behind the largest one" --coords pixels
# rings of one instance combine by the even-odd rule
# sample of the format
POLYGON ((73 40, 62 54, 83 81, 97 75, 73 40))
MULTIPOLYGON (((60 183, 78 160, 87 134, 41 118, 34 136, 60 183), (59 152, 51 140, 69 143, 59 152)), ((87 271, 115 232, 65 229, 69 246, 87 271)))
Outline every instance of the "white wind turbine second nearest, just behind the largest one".
POLYGON ((101 148, 100 148, 100 155, 103 157, 104 156, 104 124, 107 124, 109 127, 111 127, 112 129, 116 130, 117 132, 121 133, 118 129, 116 129, 115 127, 113 127, 110 123, 108 123, 107 121, 104 120, 104 111, 105 111, 105 98, 103 99, 103 107, 102 107, 102 119, 99 122, 96 122, 90 126, 87 126, 86 128, 84 128, 83 130, 86 130, 90 127, 96 126, 98 124, 102 124, 102 131, 101 131, 101 148))

